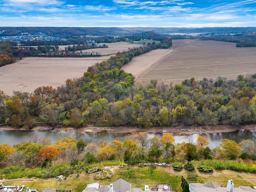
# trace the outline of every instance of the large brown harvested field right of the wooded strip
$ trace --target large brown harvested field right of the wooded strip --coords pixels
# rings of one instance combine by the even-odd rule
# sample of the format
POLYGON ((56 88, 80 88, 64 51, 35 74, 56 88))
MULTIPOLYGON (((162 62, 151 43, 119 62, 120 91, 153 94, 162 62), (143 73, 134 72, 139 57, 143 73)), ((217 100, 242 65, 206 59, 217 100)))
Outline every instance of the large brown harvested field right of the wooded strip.
MULTIPOLYGON (((132 59, 132 65, 124 68, 136 76, 136 82, 158 82, 178 84, 184 79, 194 77, 202 80, 204 77, 215 80, 218 76, 236 79, 239 74, 256 73, 256 47, 236 48, 235 43, 200 40, 173 40, 173 52, 162 55, 157 62, 138 62, 132 59), (151 62, 151 64, 149 64, 151 62), (144 67, 148 66, 150 67, 144 67), (145 70, 138 74, 137 66, 145 70), (132 70, 134 68, 134 70, 132 70)), ((152 54, 154 52, 150 52, 152 54)), ((152 54, 154 55, 154 54, 152 54)))

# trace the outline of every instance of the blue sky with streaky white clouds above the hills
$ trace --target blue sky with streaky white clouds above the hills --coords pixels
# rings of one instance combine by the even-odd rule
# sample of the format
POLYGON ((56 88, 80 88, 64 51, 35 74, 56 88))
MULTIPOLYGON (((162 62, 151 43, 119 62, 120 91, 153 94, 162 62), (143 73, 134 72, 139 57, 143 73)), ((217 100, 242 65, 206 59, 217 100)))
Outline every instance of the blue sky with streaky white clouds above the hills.
POLYGON ((0 0, 0 26, 247 27, 256 0, 0 0))

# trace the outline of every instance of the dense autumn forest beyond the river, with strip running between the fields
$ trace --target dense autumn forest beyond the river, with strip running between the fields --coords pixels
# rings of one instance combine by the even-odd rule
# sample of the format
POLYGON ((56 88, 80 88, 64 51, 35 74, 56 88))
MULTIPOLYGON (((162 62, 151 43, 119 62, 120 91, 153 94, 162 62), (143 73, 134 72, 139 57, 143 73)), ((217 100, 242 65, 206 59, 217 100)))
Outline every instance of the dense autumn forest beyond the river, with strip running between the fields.
POLYGON ((12 127, 38 125, 79 128, 95 126, 217 126, 254 124, 256 74, 236 80, 195 78, 172 85, 151 80, 134 84, 134 76, 120 68, 134 56, 166 48, 172 40, 118 52, 90 66, 84 75, 67 79, 66 86, 42 86, 33 94, 0 92, 0 123, 12 127))

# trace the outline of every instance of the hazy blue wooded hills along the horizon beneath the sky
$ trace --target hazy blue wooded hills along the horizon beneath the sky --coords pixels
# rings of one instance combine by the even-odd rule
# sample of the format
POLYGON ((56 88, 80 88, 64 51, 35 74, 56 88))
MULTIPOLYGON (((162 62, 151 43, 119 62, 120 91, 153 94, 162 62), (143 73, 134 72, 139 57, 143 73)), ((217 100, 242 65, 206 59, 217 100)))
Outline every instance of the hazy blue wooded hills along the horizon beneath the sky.
POLYGON ((37 34, 43 32, 49 36, 72 37, 72 36, 106 36, 106 35, 132 35, 152 31, 157 34, 165 33, 202 33, 202 32, 256 32, 256 27, 205 27, 205 28, 156 28, 156 27, 0 27, 0 36, 15 36, 21 33, 37 34))

